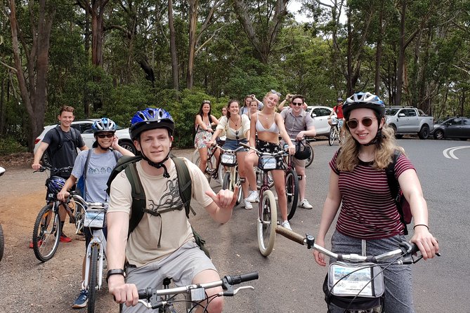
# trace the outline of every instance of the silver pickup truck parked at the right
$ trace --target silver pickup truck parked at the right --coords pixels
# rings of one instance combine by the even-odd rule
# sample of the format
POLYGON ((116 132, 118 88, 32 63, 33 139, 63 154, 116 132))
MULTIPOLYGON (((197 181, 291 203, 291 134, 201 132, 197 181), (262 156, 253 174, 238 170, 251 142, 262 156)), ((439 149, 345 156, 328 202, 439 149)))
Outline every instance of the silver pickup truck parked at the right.
POLYGON ((386 107, 385 115, 396 138, 402 138, 405 134, 417 134, 420 139, 426 139, 434 127, 433 116, 427 116, 416 107, 386 107))

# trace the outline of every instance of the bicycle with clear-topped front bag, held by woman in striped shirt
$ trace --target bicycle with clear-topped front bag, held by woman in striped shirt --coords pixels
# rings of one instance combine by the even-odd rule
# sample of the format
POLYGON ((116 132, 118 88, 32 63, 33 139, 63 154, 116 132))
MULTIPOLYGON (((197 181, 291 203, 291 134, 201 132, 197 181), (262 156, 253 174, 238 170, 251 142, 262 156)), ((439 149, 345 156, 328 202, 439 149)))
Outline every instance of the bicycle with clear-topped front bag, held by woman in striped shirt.
POLYGON ((384 313, 384 270, 393 264, 409 265, 422 259, 422 255, 414 256, 419 252, 416 244, 407 241, 400 243, 396 250, 363 256, 333 253, 315 244, 311 234, 303 236, 279 226, 276 232, 337 260, 329 265, 323 291, 328 309, 334 305, 344 313, 384 313))

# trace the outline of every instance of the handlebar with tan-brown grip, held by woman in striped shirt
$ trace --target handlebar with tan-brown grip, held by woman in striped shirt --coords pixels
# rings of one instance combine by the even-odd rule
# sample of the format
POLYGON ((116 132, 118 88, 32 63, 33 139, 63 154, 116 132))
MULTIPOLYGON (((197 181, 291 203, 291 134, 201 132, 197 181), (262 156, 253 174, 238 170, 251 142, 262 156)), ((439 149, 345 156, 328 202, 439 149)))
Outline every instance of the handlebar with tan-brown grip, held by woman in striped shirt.
MULTIPOLYGON (((396 260, 398 264, 412 264, 412 263, 418 262, 422 258, 422 256, 420 256, 417 260, 414 260, 412 258, 412 255, 414 255, 414 253, 419 252, 419 248, 416 244, 410 243, 407 241, 403 241, 402 243, 400 243, 400 247, 396 250, 382 253, 381 255, 363 256, 363 255, 358 255, 355 253, 351 253, 351 254, 333 253, 332 251, 329 251, 327 248, 323 248, 322 246, 318 246, 317 244, 315 244, 315 237, 313 237, 311 234, 306 234, 305 236, 302 236, 301 234, 292 232, 291 230, 286 229, 285 227, 280 227, 279 225, 276 227, 276 232, 286 237, 287 239, 295 241, 298 244, 307 245, 308 249, 313 248, 314 250, 319 251, 320 253, 328 255, 330 258, 334 258, 339 261, 348 261, 348 262, 353 262, 353 263, 363 263, 363 262, 377 263, 377 262, 380 262, 381 260, 398 258, 398 259, 403 259, 403 260, 396 260)), ((436 253, 436 255, 440 256, 440 253, 436 253)))

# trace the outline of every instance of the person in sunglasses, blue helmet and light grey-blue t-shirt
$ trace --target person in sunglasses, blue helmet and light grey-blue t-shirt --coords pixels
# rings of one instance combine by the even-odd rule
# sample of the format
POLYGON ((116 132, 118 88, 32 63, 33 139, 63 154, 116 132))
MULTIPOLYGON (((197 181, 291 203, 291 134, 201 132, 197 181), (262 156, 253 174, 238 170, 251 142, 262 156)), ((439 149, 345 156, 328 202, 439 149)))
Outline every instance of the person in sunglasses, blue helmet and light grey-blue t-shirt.
MULTIPOLYGON (((133 156, 133 153, 124 147, 119 146, 118 138, 115 135, 117 126, 114 121, 103 117, 98 119, 91 126, 95 142, 93 149, 80 152, 75 160, 72 175, 65 182, 64 187, 57 194, 60 201, 65 201, 69 196, 68 190, 75 185, 79 178, 84 178, 84 192, 82 196, 89 202, 107 202, 106 182, 110 177, 112 168, 116 166, 117 159, 123 155, 133 156), (110 149, 112 148, 112 149, 110 149)), ((91 232, 88 228, 84 229, 85 232, 85 248, 88 247, 91 241, 91 232)), ((103 229, 106 233, 106 230, 103 229)), ((85 277, 85 261, 81 269, 81 279, 84 281, 85 277)), ((88 291, 85 290, 83 282, 81 284, 81 292, 77 300, 75 300, 72 308, 81 309, 86 307, 88 302, 88 291)))

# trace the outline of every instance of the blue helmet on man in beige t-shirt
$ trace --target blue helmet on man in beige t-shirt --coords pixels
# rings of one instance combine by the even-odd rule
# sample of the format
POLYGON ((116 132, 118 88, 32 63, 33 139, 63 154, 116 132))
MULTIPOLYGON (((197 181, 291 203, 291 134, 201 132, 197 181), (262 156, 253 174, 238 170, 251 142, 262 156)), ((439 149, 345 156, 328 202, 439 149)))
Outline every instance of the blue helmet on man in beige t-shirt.
POLYGON ((175 122, 164 109, 148 107, 134 114, 131 119, 129 134, 132 140, 136 140, 143 131, 155 128, 167 128, 170 135, 172 135, 175 129, 175 122))

